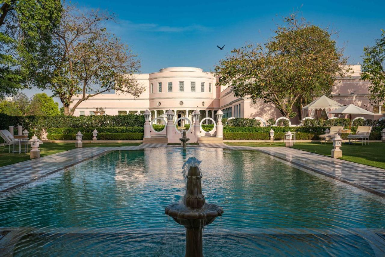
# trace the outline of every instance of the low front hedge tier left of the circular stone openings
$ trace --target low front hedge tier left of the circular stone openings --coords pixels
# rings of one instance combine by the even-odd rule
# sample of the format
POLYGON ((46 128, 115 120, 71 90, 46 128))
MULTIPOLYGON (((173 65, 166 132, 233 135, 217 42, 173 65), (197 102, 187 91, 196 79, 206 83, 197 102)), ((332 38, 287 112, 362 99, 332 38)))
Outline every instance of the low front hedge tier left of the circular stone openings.
MULTIPOLYGON (((48 134, 48 140, 76 140, 75 134, 48 134)), ((143 140, 143 133, 99 133, 98 140, 143 140)), ((92 133, 83 134, 83 140, 92 140, 92 133)))

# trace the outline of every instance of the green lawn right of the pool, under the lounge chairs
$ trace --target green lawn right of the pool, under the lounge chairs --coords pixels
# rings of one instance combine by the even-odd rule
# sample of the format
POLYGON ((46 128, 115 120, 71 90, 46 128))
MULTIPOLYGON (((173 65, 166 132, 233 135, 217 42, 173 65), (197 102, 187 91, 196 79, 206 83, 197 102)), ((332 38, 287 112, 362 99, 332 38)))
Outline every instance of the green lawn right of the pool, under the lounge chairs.
MULTIPOLYGON (((285 143, 233 143, 228 142, 228 145, 242 146, 259 146, 259 147, 278 147, 284 146, 285 143)), ((331 156, 332 143, 320 144, 320 142, 296 143, 293 148, 314 152, 324 156, 331 156)), ((370 145, 345 145, 342 144, 342 157, 340 159, 350 162, 357 162, 368 166, 385 169, 385 143, 373 142, 370 145)))

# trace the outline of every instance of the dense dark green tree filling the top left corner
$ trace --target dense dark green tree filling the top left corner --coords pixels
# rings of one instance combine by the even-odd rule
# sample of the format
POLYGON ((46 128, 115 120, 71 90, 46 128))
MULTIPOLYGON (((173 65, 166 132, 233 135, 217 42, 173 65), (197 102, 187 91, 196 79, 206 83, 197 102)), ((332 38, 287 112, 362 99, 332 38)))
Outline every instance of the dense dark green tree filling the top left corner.
POLYGON ((60 0, 5 0, 0 4, 0 99, 30 84, 52 29, 60 18, 60 0))

